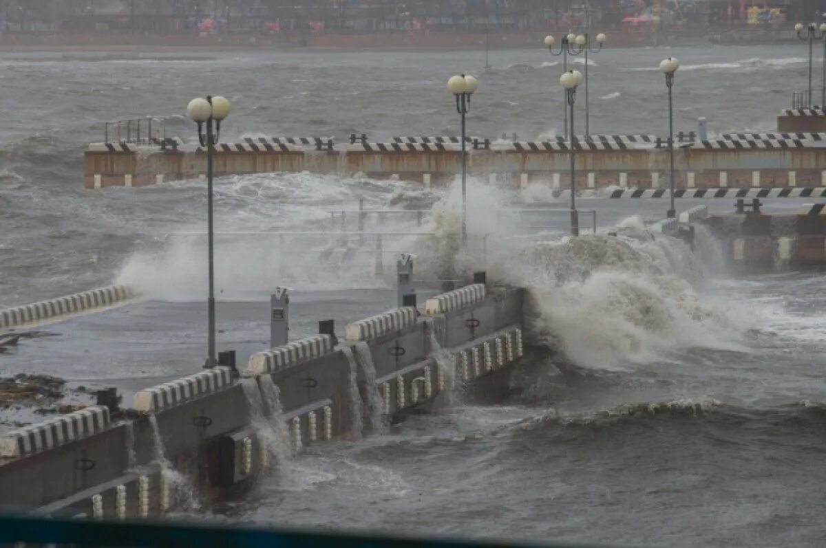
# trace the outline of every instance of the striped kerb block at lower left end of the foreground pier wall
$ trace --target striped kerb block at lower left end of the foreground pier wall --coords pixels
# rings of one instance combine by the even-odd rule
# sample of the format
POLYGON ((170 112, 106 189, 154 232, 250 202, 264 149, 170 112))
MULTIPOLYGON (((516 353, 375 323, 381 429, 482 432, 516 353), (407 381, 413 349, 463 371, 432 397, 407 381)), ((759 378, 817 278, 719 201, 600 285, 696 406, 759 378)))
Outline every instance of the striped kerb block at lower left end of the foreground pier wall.
POLYGON ((0 456, 21 457, 54 449, 109 428, 109 409, 94 405, 0 437, 0 456))

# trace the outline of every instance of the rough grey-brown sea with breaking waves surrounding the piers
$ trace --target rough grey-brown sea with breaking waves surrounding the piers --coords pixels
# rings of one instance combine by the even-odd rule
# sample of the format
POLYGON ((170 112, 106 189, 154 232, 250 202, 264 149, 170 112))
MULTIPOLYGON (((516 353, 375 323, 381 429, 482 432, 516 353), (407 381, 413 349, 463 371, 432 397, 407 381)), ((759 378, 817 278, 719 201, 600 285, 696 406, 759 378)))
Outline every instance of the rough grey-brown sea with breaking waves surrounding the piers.
MULTIPOLYGON (((772 130, 790 83, 805 82, 802 54, 786 46, 605 50, 590 67, 591 131, 662 134, 665 88, 654 67, 666 55, 682 62, 677 129, 693 130, 695 118, 705 116, 716 133, 772 130)), ((227 139, 453 133, 444 82, 483 64, 468 52, 94 59, 0 58, 0 305, 115 280, 161 301, 202 298, 202 239, 175 234, 204 228, 202 182, 83 190, 83 149, 101 139, 102 120, 179 115, 191 97, 212 92, 233 102, 227 139)), ((533 139, 560 131, 557 61, 539 48, 491 54, 494 68, 479 74, 469 133, 533 139)), ((192 139, 183 117, 167 130, 192 139)), ((449 276, 478 262, 457 248, 455 188, 429 192, 406 182, 308 173, 227 177, 216 186, 216 227, 317 230, 329 226, 328 210, 352 208, 359 198, 368 207, 432 210, 421 227, 415 216, 385 225, 428 233, 387 242, 389 250, 419 256, 417 276, 449 276)), ((542 189, 528 201, 566 206, 542 189)), ((248 498, 195 515, 530 541, 821 546, 823 276, 733 279, 703 234, 694 254, 651 239, 642 221, 662 217, 665 201, 582 201, 598 210, 601 230, 618 227, 619 234, 574 243, 558 234, 564 215, 525 220, 504 213, 494 224, 490 212, 512 202, 521 203, 509 189, 471 181, 471 234, 495 233, 488 271, 528 287, 531 296, 534 350, 505 404, 464 404, 459 395, 453 407, 382 436, 313 447, 248 498), (548 231, 539 243, 514 238, 537 229, 548 231)), ((219 237, 221 299, 259 299, 281 284, 313 300, 330 289, 392 281, 391 272, 374 274, 370 254, 320 253, 329 244, 219 237), (319 253, 296 253, 306 249, 319 253)), ((368 313, 366 302, 359 314, 368 313)), ((385 305, 376 300, 377 309, 385 305)), ((232 322, 233 336, 249 337, 249 324, 232 322)), ((141 326, 153 338, 151 322, 141 326)), ((200 330, 180 333, 189 345, 202 343, 200 330)), ((134 383, 143 374, 151 384, 164 376, 149 364, 145 373, 136 369, 140 345, 129 348, 107 359, 107 377, 134 383)), ((187 351, 173 358, 170 375, 188 371, 187 351)), ((0 371, 45 363, 59 366, 26 362, 24 351, 0 357, 0 371)), ((89 378, 93 363, 73 360, 55 372, 89 378)))

